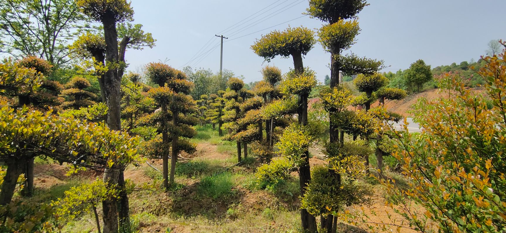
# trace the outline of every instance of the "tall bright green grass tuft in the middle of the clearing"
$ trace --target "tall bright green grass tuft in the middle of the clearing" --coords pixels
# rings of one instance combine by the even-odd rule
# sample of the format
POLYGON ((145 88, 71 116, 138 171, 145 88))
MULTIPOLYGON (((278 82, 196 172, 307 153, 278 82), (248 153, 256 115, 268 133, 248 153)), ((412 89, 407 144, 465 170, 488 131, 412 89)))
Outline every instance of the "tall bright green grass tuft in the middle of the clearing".
POLYGON ((204 177, 200 181, 198 192, 214 199, 227 198, 234 194, 233 187, 232 173, 223 172, 204 177))

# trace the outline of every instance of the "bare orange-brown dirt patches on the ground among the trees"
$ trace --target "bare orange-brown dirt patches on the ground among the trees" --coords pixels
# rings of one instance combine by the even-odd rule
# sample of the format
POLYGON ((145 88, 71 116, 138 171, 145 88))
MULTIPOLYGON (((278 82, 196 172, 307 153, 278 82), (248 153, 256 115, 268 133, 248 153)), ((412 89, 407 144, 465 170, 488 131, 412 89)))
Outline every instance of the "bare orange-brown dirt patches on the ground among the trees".
MULTIPOLYGON (((326 162, 322 160, 323 154, 320 152, 318 148, 311 148, 311 154, 313 157, 310 159, 311 166, 315 165, 323 165, 326 162)), ((186 156, 186 155, 182 155, 186 156)), ((212 145, 208 143, 201 143, 197 147, 197 153, 194 155, 195 157, 189 158, 189 159, 196 159, 196 158, 202 158, 202 159, 214 159, 214 160, 225 160, 229 159, 229 154, 219 153, 217 151, 217 145, 212 145)), ((157 167, 158 169, 161 168, 161 160, 150 160, 148 161, 151 165, 154 167, 157 167)), ((152 169, 149 168, 146 163, 140 164, 139 167, 130 166, 125 170, 125 178, 131 179, 137 184, 142 183, 151 183, 153 180, 148 177, 145 173, 146 169, 152 169)), ((53 185, 59 185, 64 182, 66 182, 69 177, 65 175, 66 171, 68 170, 65 166, 60 166, 59 164, 37 164, 35 166, 35 185, 37 188, 41 189, 49 189, 53 185)), ((83 172, 76 174, 74 176, 88 176, 90 179, 94 179, 94 177, 98 175, 97 173, 93 172, 83 172)), ((294 176, 298 176, 298 174, 294 174, 294 176)), ((252 215, 259 215, 262 213, 262 211, 266 208, 266 206, 270 206, 271 208, 274 206, 279 206, 282 208, 287 209, 297 209, 298 207, 298 200, 297 198, 294 198, 292 203, 281 203, 277 198, 273 196, 272 193, 269 193, 267 191, 249 191, 240 185, 234 189, 237 193, 240 193, 241 195, 238 196, 237 200, 232 201, 218 201, 215 202, 211 199, 209 200, 201 200, 199 203, 194 203, 191 198, 196 193, 196 183, 198 180, 195 179, 184 179, 181 182, 185 183, 186 187, 179 191, 178 197, 181 199, 178 199, 178 203, 176 203, 174 197, 167 196, 167 194, 161 194, 161 196, 158 196, 156 198, 150 197, 150 202, 160 202, 160 203, 150 203, 150 205, 160 205, 159 208, 163 209, 166 208, 165 211, 171 211, 172 209, 180 208, 179 211, 182 211, 188 215, 197 213, 198 210, 203 208, 216 208, 216 212, 219 213, 225 213, 227 212, 227 208, 229 208, 230 204, 232 202, 236 203, 239 202, 240 205, 236 207, 236 209, 241 213, 248 213, 252 215), (153 199, 153 200, 151 200, 153 199), (185 201, 186 200, 186 201, 185 201), (163 203, 162 203, 163 202, 163 203), (206 204, 207 203, 207 204, 206 204)), ((138 200, 139 198, 142 199, 143 197, 137 197, 137 194, 131 195, 131 202, 134 200, 138 200)), ((390 207, 385 206, 385 199, 384 199, 384 193, 379 188, 375 188, 374 190, 374 197, 372 198, 372 203, 370 205, 364 205, 364 206, 353 206, 351 207, 351 210, 355 211, 361 211, 361 208, 364 208, 363 211, 365 213, 370 213, 371 211, 376 212, 376 216, 369 214, 371 216, 370 220, 373 222, 381 222, 382 220, 388 220, 387 211, 393 216, 394 219, 397 219, 396 221, 400 222, 401 218, 399 215, 393 213, 390 207)), ((142 200, 138 200, 142 201, 142 200)), ((131 204, 132 205, 132 204, 131 204)), ((139 212, 143 211, 142 207, 141 209, 133 210, 133 212, 139 212)), ((298 211, 294 211, 293 214, 297 214, 298 211)), ((230 220, 233 221, 233 220, 230 220)), ((237 221, 246 221, 246 219, 241 220, 238 219, 237 221)), ((254 220, 252 220, 254 221, 254 220)), ((230 224, 236 224, 236 222, 231 222, 230 224)), ((266 227, 279 227, 279 224, 286 224, 283 222, 283 220, 275 220, 273 219, 272 222, 269 223, 270 226, 266 227)), ((140 225, 141 232, 165 232, 167 227, 170 227, 172 229, 171 232, 213 232, 217 229, 217 225, 213 224, 213 222, 202 222, 202 221, 191 221, 191 220, 178 220, 171 217, 171 214, 161 215, 159 218, 149 222, 145 223, 142 222, 140 225)), ((238 226, 239 227, 243 227, 238 226)), ((249 229, 248 226, 244 226, 244 231, 242 232, 265 232, 256 228, 249 229)), ((350 228, 350 226, 346 226, 350 230, 345 230, 344 232, 360 232, 357 231, 357 228, 350 228)), ((359 226, 362 229, 367 229, 366 226, 359 226)), ((239 232, 239 231, 231 231, 231 232, 239 232)), ((367 231, 364 231, 367 232, 367 231)), ((407 228, 402 228, 401 232, 415 232, 414 230, 410 230, 407 228)))

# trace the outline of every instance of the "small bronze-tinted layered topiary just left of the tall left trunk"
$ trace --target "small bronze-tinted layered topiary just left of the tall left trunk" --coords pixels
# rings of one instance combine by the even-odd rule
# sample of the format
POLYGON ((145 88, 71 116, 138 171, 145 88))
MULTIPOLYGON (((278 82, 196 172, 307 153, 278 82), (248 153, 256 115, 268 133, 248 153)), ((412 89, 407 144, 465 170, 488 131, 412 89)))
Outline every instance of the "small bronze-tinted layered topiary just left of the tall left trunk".
POLYGON ((95 94, 85 90, 90 87, 90 81, 82 77, 73 77, 67 84, 66 89, 61 93, 66 101, 61 105, 63 109, 79 109, 97 104, 93 99, 97 98, 95 94))

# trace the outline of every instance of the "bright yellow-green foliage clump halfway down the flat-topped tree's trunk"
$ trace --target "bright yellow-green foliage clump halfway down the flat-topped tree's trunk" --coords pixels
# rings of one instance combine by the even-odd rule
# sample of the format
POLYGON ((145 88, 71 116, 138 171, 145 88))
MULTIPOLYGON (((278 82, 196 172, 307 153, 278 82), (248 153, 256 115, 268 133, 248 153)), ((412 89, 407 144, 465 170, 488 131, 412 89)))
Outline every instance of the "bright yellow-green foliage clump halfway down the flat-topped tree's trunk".
POLYGON ((277 153, 299 166, 305 162, 303 157, 314 141, 315 137, 307 127, 293 124, 286 128, 279 138, 276 144, 279 149, 277 153))

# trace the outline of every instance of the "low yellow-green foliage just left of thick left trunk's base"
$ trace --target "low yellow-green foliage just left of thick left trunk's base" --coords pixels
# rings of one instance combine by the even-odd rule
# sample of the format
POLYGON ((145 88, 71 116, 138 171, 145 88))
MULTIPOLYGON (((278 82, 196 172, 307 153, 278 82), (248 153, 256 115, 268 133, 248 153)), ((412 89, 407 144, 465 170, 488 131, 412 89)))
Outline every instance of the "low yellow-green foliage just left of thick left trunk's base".
POLYGON ((119 190, 97 178, 92 183, 70 188, 65 191, 64 198, 58 198, 58 201, 52 204, 57 207, 56 214, 59 217, 73 219, 82 213, 90 212, 92 207, 96 207, 102 201, 116 199, 118 195, 119 190))

